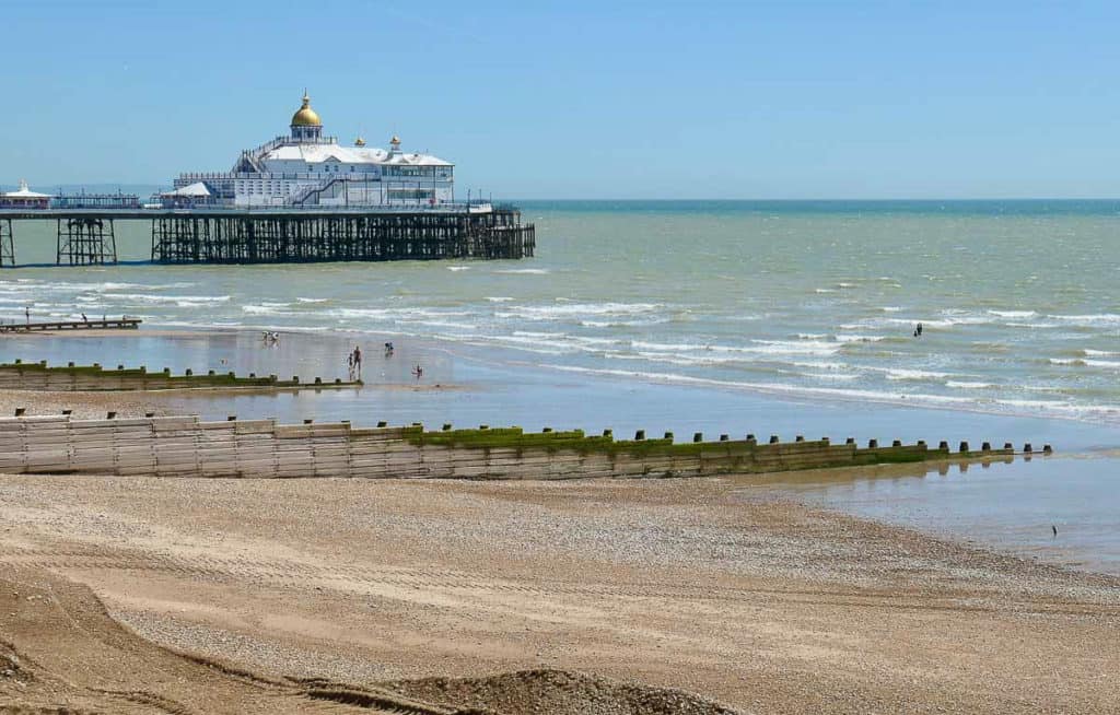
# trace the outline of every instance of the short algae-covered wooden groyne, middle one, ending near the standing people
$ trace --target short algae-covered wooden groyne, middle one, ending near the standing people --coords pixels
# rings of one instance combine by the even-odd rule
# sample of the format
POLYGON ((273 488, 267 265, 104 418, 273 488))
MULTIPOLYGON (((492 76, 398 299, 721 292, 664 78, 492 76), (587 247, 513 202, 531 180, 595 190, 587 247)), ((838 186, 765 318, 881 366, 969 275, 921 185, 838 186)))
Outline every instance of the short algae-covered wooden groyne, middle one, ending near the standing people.
POLYGON ((101 365, 74 365, 48 366, 46 360, 40 363, 15 363, 0 364, 0 388, 2 389, 43 389, 56 392, 100 392, 100 391, 128 391, 128 389, 213 389, 213 388, 277 388, 277 389, 321 389, 338 387, 360 387, 362 380, 345 382, 339 378, 325 380, 315 377, 310 380, 300 380, 298 375, 291 379, 280 379, 276 375, 258 376, 250 373, 248 376, 236 373, 217 373, 207 370, 205 374, 195 374, 187 370, 183 375, 172 375, 170 368, 165 367, 161 371, 149 373, 146 366, 127 368, 118 365, 115 370, 106 370, 101 365))

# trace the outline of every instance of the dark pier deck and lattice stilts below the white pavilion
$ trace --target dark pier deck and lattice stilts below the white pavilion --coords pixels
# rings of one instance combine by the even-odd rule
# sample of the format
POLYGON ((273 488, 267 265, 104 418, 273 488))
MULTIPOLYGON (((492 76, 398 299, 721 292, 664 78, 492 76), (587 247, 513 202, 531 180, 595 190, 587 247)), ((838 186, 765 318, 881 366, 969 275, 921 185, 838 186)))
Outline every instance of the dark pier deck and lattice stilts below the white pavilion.
POLYGON ((526 258, 536 242, 512 206, 318 209, 0 209, 0 265, 16 266, 15 225, 56 223, 58 265, 118 262, 115 222, 151 226, 151 261, 316 263, 526 258))

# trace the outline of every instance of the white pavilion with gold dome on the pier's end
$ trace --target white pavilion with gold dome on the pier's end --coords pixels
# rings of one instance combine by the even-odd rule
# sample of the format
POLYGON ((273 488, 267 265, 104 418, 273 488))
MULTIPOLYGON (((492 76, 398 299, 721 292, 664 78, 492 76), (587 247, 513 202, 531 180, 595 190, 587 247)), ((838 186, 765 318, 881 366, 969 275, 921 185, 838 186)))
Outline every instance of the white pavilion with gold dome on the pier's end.
POLYGON ((323 121, 304 94, 290 133, 241 153, 228 173, 183 173, 165 204, 236 207, 438 207, 455 199, 455 164, 438 157, 351 147, 323 135, 323 121))

